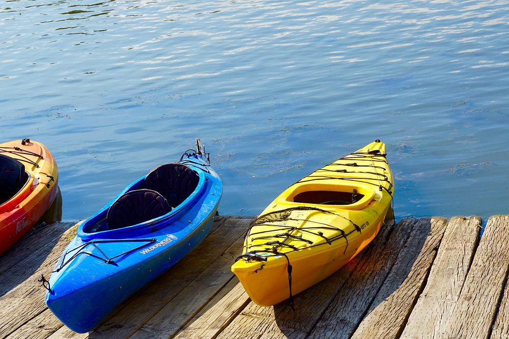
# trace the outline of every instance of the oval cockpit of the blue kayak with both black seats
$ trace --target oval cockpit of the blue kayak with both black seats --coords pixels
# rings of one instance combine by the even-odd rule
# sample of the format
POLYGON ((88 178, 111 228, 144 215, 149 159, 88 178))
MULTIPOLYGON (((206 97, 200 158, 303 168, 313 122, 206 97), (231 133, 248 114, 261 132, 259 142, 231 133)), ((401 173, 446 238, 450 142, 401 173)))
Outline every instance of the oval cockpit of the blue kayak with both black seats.
POLYGON ((178 214, 187 201, 202 191, 205 184, 203 171, 195 171, 182 163, 169 163, 156 167, 146 176, 134 181, 106 206, 88 219, 80 233, 101 233, 101 237, 114 236, 116 230, 149 227, 178 214))

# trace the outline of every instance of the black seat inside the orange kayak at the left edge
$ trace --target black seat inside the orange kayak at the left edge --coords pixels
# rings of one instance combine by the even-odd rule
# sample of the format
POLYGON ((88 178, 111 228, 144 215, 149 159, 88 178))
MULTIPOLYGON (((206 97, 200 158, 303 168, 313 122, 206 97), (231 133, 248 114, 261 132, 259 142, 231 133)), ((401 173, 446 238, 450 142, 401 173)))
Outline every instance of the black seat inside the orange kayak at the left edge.
POLYGON ((27 179, 25 166, 14 158, 0 154, 0 204, 21 190, 27 179))

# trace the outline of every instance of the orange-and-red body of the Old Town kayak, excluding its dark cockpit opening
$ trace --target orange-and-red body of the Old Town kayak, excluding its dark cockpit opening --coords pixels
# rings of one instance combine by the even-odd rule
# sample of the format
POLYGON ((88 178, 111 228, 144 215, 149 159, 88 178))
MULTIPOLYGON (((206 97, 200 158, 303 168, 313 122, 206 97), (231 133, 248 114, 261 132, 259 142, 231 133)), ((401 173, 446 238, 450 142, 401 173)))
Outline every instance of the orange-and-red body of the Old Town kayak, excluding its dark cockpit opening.
POLYGON ((0 205, 0 255, 41 219, 58 192, 58 166, 49 150, 37 141, 0 143, 0 154, 21 162, 27 180, 21 190, 0 205), (15 147, 17 149, 15 149, 15 147))

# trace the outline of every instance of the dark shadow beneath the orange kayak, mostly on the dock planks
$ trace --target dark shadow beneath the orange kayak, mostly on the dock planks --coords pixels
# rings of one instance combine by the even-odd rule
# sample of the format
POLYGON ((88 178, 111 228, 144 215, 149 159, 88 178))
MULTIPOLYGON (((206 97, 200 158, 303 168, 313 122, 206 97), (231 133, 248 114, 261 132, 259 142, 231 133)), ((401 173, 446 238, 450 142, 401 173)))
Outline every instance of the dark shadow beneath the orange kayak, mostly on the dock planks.
POLYGON ((0 256, 0 297, 30 279, 40 268, 69 226, 54 224, 61 220, 62 193, 59 187, 55 199, 37 225, 0 256))

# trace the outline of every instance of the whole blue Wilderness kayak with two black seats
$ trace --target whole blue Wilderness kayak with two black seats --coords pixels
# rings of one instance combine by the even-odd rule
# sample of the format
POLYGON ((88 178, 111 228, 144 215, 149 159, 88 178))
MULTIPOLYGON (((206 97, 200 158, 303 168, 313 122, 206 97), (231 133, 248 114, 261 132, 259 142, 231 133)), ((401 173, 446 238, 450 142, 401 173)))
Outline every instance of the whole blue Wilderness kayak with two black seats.
POLYGON ((137 179, 84 221, 49 281, 41 279, 46 304, 70 329, 92 330, 207 236, 222 181, 199 139, 196 148, 137 179))

